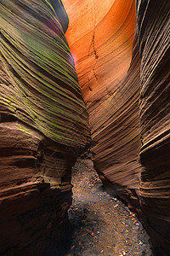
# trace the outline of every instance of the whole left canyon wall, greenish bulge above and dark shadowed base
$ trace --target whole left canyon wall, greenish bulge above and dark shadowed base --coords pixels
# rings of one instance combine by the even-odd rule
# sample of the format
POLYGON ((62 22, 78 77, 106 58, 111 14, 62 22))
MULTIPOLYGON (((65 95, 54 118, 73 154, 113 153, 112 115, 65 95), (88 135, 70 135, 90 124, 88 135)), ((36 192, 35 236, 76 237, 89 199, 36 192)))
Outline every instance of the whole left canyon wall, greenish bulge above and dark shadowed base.
POLYGON ((52 253, 66 228, 90 136, 67 26, 60 1, 0 1, 0 254, 52 253))

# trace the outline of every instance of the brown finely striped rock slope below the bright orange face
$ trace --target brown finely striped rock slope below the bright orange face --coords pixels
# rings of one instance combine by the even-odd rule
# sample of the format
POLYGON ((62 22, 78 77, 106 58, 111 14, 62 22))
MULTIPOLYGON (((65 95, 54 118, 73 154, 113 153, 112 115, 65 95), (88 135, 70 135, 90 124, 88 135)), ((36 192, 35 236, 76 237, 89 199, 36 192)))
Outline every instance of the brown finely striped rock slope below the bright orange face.
POLYGON ((113 113, 97 135, 100 147, 96 143, 93 149, 96 152, 94 166, 105 187, 114 195, 121 196, 133 211, 139 211, 140 214, 139 65, 138 40, 135 35, 130 67, 110 99, 117 109, 112 108, 113 113))

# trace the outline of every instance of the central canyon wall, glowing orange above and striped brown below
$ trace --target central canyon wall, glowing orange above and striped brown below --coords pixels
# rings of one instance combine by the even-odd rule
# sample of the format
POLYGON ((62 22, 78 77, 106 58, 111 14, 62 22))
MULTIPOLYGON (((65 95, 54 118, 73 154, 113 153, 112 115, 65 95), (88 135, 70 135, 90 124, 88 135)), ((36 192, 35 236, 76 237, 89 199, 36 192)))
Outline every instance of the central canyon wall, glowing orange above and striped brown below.
POLYGON ((135 3, 63 3, 70 19, 66 38, 88 108, 94 166, 107 189, 137 207, 140 84, 137 38, 133 44, 135 3))

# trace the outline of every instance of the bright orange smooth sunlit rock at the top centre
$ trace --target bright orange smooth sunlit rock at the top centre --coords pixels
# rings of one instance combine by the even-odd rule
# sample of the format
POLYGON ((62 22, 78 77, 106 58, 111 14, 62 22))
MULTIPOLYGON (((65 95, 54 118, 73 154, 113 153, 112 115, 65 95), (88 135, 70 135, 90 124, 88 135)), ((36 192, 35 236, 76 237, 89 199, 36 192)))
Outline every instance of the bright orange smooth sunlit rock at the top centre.
MULTIPOLYGON (((84 4, 64 0, 63 3, 68 6, 66 11, 70 17, 65 36, 91 115, 113 94, 127 73, 132 56, 135 4, 134 1, 110 0, 103 8, 103 3, 97 0, 84 4), (77 16, 81 20, 74 18, 77 16)), ((89 119, 92 122, 90 116, 89 119)), ((91 126, 94 132, 95 124, 91 126)))

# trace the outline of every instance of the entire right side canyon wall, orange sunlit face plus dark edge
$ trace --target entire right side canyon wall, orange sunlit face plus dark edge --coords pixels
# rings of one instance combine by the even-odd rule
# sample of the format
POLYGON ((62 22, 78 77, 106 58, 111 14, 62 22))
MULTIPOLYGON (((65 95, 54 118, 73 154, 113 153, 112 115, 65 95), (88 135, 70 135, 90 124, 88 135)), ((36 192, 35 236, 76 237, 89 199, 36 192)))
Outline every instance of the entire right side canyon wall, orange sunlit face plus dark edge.
POLYGON ((157 255, 168 255, 170 3, 136 1, 136 15, 130 0, 63 3, 94 166, 143 219, 157 255))

